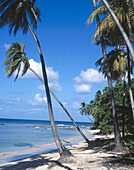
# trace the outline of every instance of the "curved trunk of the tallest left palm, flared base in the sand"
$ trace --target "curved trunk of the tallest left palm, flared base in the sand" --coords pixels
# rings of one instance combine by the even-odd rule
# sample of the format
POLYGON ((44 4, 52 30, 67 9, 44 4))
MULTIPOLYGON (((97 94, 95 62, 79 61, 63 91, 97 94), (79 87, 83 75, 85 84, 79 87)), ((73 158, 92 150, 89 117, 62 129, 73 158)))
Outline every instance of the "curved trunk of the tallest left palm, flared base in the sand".
POLYGON ((42 72, 43 72, 43 78, 45 81, 45 90, 46 90, 46 96, 47 96, 47 103, 48 103, 48 110, 49 110, 49 117, 50 117, 50 122, 51 122, 51 127, 52 127, 52 132, 53 132, 53 136, 55 139, 55 143, 57 145, 59 154, 61 156, 73 156, 72 153, 61 143, 61 140, 59 138, 57 129, 56 129, 56 125, 54 122, 54 116, 53 116, 53 109, 52 109, 52 103, 51 103, 51 97, 50 97, 50 93, 49 93, 49 87, 48 87, 48 80, 47 80, 47 73, 46 73, 46 67, 45 67, 45 63, 44 63, 44 58, 43 58, 43 54, 42 54, 42 50, 41 50, 41 46, 40 46, 40 42, 37 38, 37 36, 35 35, 34 31, 32 30, 31 26, 28 23, 28 28, 31 32, 31 34, 33 35, 37 46, 38 46, 38 51, 40 54, 40 60, 41 60, 41 65, 42 65, 42 72))

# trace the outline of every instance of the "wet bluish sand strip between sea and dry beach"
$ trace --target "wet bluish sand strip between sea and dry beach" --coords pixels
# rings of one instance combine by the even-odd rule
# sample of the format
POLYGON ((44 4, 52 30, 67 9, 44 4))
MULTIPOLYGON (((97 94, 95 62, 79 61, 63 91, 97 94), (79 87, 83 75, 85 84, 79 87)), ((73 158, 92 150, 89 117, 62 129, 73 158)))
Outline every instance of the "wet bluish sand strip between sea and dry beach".
MULTIPOLYGON (((89 139, 93 138, 93 135, 91 134, 89 129, 86 129, 83 132, 87 136, 87 138, 89 138, 89 139)), ((62 141, 62 143, 66 147, 68 147, 68 146, 78 144, 79 142, 83 141, 84 139, 81 137, 81 135, 79 135, 79 136, 67 138, 65 140, 69 141, 70 143, 66 143, 64 141, 62 141)), ((19 160, 22 160, 25 158, 29 158, 29 157, 38 155, 38 154, 48 153, 48 152, 53 152, 53 151, 57 151, 57 146, 55 143, 48 143, 48 144, 44 144, 41 146, 27 148, 24 150, 18 150, 18 151, 13 151, 13 152, 0 153, 0 166, 1 166, 1 164, 19 161, 19 160)))

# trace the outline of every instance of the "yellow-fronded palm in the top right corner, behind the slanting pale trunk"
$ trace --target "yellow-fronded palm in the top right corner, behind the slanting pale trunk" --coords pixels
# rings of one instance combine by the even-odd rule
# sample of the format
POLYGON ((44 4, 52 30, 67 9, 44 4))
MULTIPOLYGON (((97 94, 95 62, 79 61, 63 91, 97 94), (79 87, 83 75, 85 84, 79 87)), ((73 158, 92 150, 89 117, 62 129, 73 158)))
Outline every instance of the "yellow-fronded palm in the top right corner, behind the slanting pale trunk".
MULTIPOLYGON (((127 33, 128 37, 132 42, 134 43, 133 38, 133 31, 134 31, 134 12, 132 10, 132 7, 128 1, 110 1, 111 8, 114 9, 114 12, 116 13, 119 21, 123 25, 123 28, 125 32, 127 33)), ((110 13, 107 12, 107 8, 105 5, 100 6, 98 9, 96 9, 91 16, 88 18, 88 22, 92 22, 93 18, 100 14, 105 13, 102 22, 99 24, 98 29, 94 35, 94 39, 96 41, 99 41, 99 35, 103 35, 105 37, 105 43, 107 45, 117 46, 117 45, 124 45, 125 42, 123 40, 123 37, 113 20, 110 13), (113 36, 114 35, 114 36, 113 36)), ((129 71, 129 68, 128 68, 129 71)), ((131 84, 131 83, 129 83, 131 84)), ((132 107, 132 113, 133 113, 133 120, 134 120, 134 100, 132 95, 132 89, 131 86, 129 86, 129 95, 131 100, 131 107, 132 107)))

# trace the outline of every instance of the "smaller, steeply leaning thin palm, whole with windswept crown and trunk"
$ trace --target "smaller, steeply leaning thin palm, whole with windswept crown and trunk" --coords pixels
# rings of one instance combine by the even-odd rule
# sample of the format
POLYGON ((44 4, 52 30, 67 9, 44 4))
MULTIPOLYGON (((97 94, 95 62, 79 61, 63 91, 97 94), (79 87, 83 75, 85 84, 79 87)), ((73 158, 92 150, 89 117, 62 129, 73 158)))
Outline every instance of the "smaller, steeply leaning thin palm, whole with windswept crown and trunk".
MULTIPOLYGON (((28 62, 28 58, 26 57, 26 53, 24 52, 24 44, 20 44, 18 42, 13 43, 10 45, 8 51, 7 51, 7 59, 4 61, 4 65, 6 66, 5 71, 7 72, 7 76, 10 77, 16 70, 17 70, 17 76, 15 77, 15 80, 18 78, 20 68, 21 68, 21 62, 23 62, 23 71, 22 76, 27 72, 29 69, 35 76, 45 85, 45 82, 40 78, 40 76, 30 67, 30 64, 28 62)), ((85 141, 89 144, 89 140, 84 135, 84 133, 81 131, 79 126, 76 124, 76 122, 73 120, 67 109, 64 107, 64 105, 59 101, 57 96, 52 92, 52 90, 49 88, 50 93, 54 96, 54 98, 57 100, 57 102, 60 104, 60 106, 63 108, 63 110, 67 113, 68 117, 71 119, 73 124, 75 125, 78 132, 81 134, 81 136, 85 139, 85 141)))

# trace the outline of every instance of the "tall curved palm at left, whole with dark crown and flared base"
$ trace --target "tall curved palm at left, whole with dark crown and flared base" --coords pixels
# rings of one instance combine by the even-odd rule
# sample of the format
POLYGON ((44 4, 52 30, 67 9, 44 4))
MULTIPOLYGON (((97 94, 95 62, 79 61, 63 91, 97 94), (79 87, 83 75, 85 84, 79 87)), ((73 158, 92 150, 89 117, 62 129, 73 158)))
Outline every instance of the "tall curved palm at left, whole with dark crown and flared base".
POLYGON ((37 28, 38 20, 41 20, 40 10, 35 6, 35 0, 0 0, 0 27, 8 24, 9 32, 12 33, 13 31, 15 35, 19 29, 22 29, 24 34, 26 34, 29 29, 37 43, 43 79, 45 81, 49 117, 55 143, 61 156, 72 156, 71 152, 61 143, 56 129, 43 53, 40 42, 32 29, 32 27, 34 29, 37 28))

